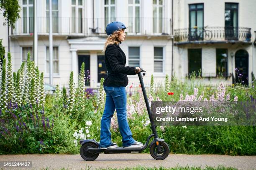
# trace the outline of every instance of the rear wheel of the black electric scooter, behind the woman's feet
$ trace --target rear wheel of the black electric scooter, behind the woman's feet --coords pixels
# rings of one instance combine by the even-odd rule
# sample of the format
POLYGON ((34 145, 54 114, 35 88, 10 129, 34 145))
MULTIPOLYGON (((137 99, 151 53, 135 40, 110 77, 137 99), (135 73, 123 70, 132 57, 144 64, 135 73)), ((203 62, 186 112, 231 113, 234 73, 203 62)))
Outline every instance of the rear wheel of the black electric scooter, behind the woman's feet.
POLYGON ((85 143, 80 148, 81 157, 84 160, 95 160, 96 158, 98 158, 99 153, 97 153, 97 154, 89 153, 86 151, 88 148, 98 148, 98 147, 97 147, 97 145, 95 145, 95 143, 85 143))

